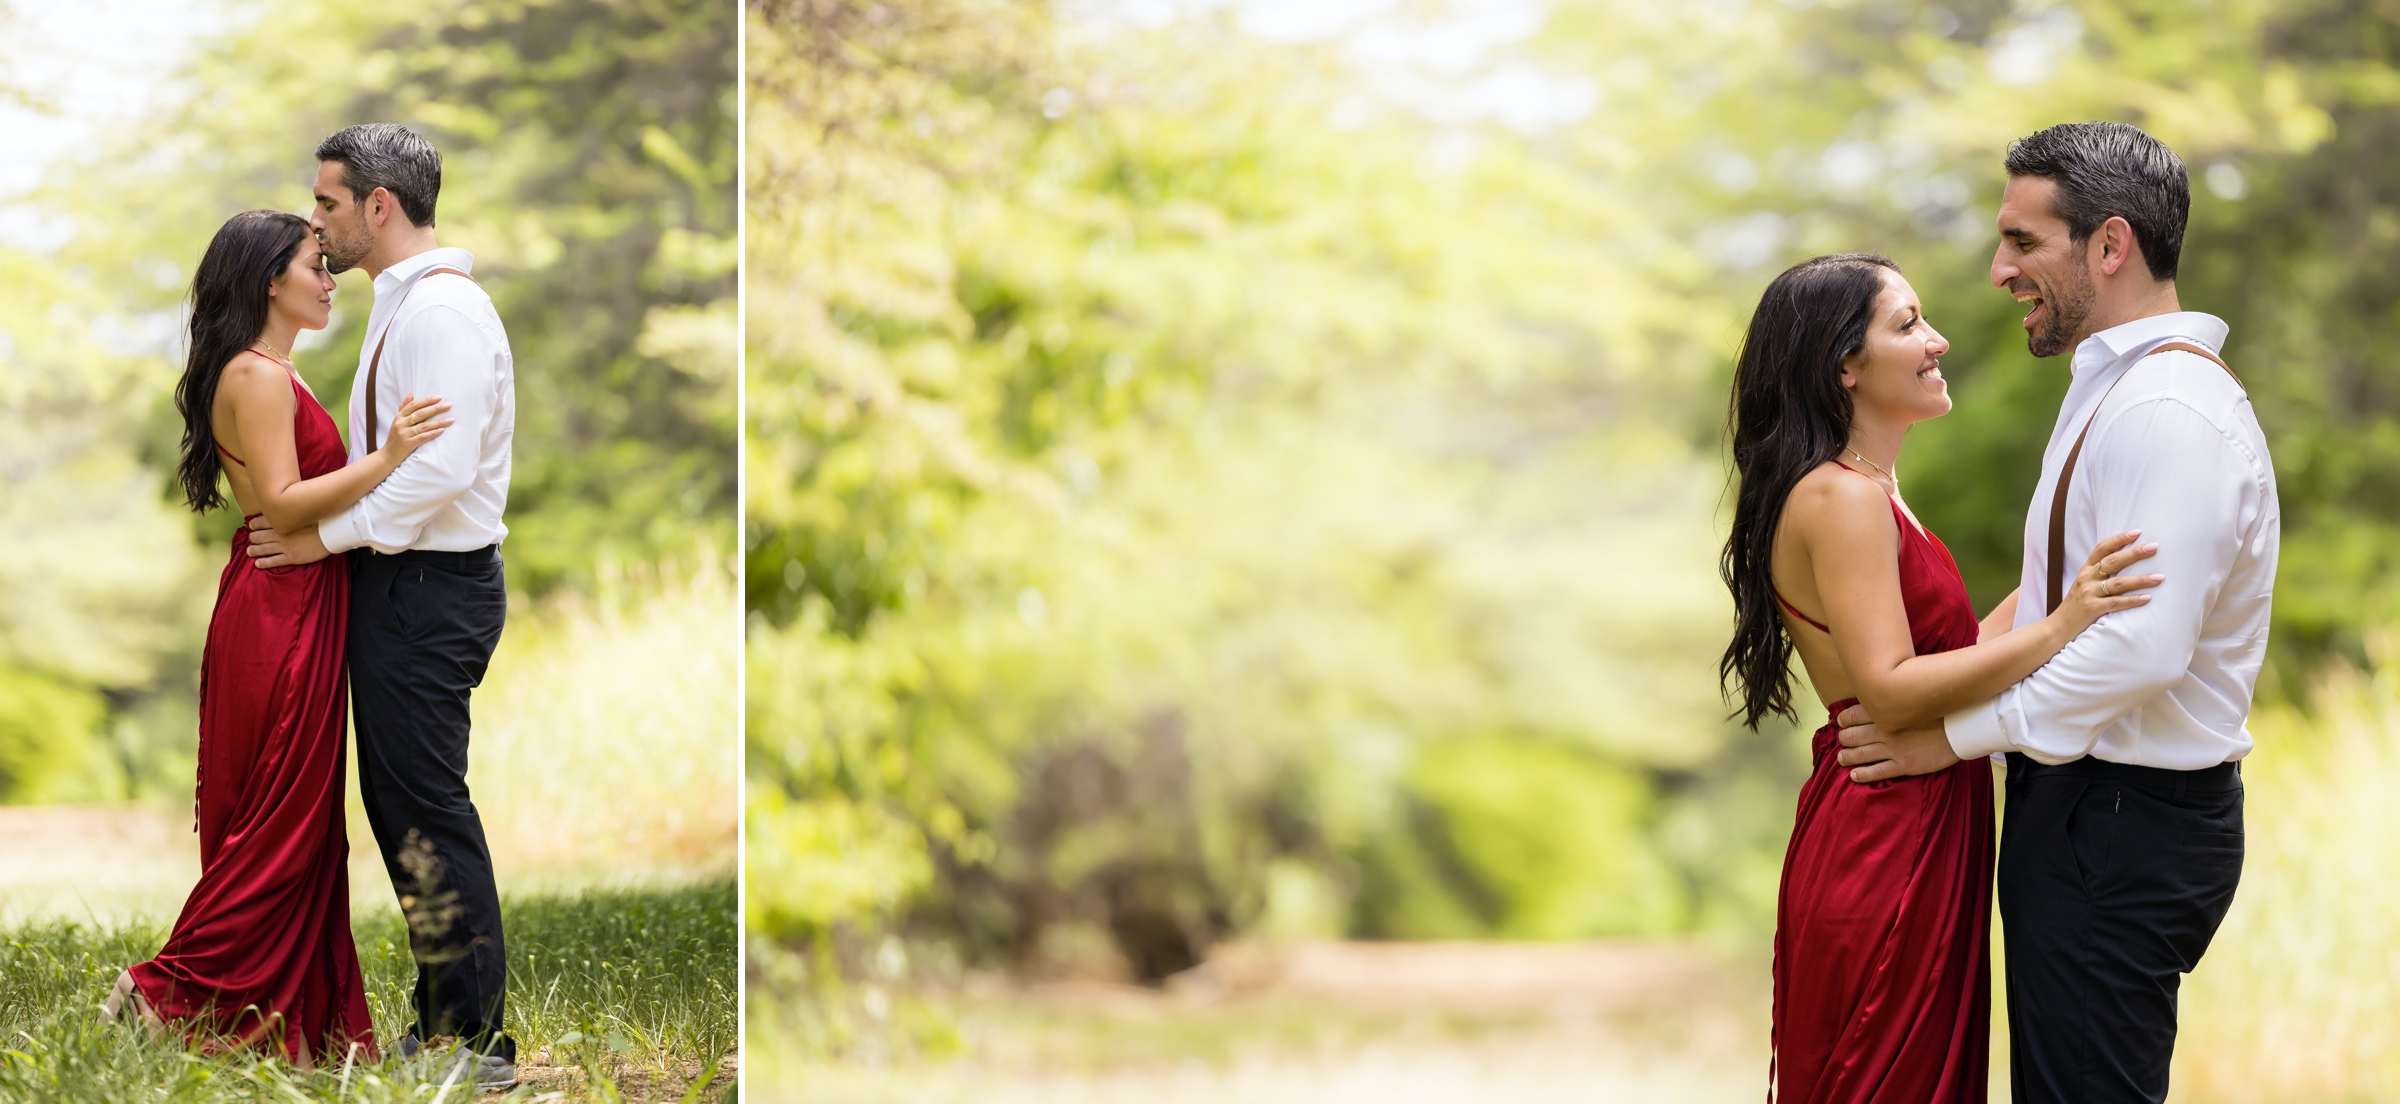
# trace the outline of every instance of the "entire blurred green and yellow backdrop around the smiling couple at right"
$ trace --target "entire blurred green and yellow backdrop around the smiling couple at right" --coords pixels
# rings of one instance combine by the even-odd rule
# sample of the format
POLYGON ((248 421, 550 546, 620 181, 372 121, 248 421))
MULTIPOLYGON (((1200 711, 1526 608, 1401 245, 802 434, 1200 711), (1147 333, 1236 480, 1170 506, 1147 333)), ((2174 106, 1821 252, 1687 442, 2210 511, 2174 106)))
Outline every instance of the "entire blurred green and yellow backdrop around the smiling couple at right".
POLYGON ((2388 5, 746 12, 761 1099, 1750 1099, 1817 715, 1714 684, 1740 326, 1908 269, 1987 610, 2066 384, 1999 156, 2093 118, 2191 166, 2285 511, 2177 1099, 2400 1097, 2388 5))

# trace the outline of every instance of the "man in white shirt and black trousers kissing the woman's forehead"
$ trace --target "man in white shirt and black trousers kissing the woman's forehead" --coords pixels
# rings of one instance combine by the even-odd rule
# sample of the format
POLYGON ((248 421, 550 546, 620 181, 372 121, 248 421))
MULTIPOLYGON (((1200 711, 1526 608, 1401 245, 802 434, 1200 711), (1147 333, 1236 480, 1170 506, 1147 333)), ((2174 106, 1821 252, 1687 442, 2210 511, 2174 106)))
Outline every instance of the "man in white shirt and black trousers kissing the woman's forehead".
POLYGON ((442 154, 394 122, 317 146, 310 223, 331 271, 365 269, 374 312, 350 386, 350 458, 389 432, 401 401, 442 396, 456 425, 355 506, 310 533, 252 523, 262 566, 350 557, 350 694, 358 792, 408 914, 415 1025, 401 1054, 456 1037, 482 1085, 516 1080, 506 943, 482 818, 466 790, 468 694, 509 612, 499 521, 509 502, 516 372, 475 259, 434 240, 442 154))

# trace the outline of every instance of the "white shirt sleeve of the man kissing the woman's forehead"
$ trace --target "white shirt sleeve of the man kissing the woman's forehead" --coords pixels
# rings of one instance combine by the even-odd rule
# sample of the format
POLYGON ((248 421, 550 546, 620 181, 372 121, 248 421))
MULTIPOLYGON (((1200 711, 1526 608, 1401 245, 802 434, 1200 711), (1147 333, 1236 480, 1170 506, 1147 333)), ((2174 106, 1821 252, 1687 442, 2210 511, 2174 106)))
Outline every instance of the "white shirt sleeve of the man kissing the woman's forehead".
MULTIPOLYGON (((442 396, 451 408, 442 418, 454 425, 418 446, 401 461, 384 482, 336 511, 317 526, 317 538, 329 552, 372 547, 377 552, 401 552, 418 540, 425 526, 451 502, 458 502, 475 485, 475 466, 482 458, 482 437, 499 406, 492 365, 492 341, 461 310, 427 305, 394 334, 394 379, 382 391, 394 396, 442 396)), ((377 420, 377 432, 391 432, 391 418, 377 420)), ((367 442, 367 449, 382 442, 367 442)))

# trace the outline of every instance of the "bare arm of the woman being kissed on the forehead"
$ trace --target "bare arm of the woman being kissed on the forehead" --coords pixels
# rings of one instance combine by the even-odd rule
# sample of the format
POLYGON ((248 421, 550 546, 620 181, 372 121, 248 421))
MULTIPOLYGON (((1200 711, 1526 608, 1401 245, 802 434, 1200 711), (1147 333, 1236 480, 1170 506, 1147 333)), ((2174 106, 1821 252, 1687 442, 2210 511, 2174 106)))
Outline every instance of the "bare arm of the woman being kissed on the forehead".
MULTIPOLYGON (((293 442, 293 403, 298 398, 293 396, 290 374, 283 365, 257 353, 233 358, 216 384, 216 413, 223 415, 230 408, 235 449, 250 468, 250 485, 259 494, 259 511, 266 514, 266 523, 278 533, 300 533, 358 502, 377 482, 384 482, 418 444, 439 437, 442 427, 449 425, 449 420, 425 422, 425 432, 413 437, 394 427, 386 444, 358 463, 302 480, 300 449, 293 442)), ((415 401, 413 396, 403 403, 406 413, 439 413, 446 408, 434 406, 434 401, 415 401)), ((221 420, 218 425, 226 422, 221 420)))

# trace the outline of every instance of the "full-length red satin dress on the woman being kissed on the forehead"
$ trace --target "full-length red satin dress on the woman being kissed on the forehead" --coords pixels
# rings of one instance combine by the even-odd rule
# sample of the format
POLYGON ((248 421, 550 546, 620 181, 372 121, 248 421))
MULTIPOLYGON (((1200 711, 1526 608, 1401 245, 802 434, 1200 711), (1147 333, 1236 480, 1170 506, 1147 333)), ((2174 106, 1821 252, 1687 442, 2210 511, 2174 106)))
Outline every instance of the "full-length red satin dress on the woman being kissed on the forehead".
MULTIPOLYGON (((300 478, 341 468, 334 418, 298 377, 293 391, 300 478)), ((343 557, 259 569, 245 547, 247 526, 199 660, 199 886, 158 958, 132 974, 161 1018, 202 1042, 264 1044, 288 1061, 341 1061, 358 1042, 367 1061, 343 826, 350 571, 343 557)))

